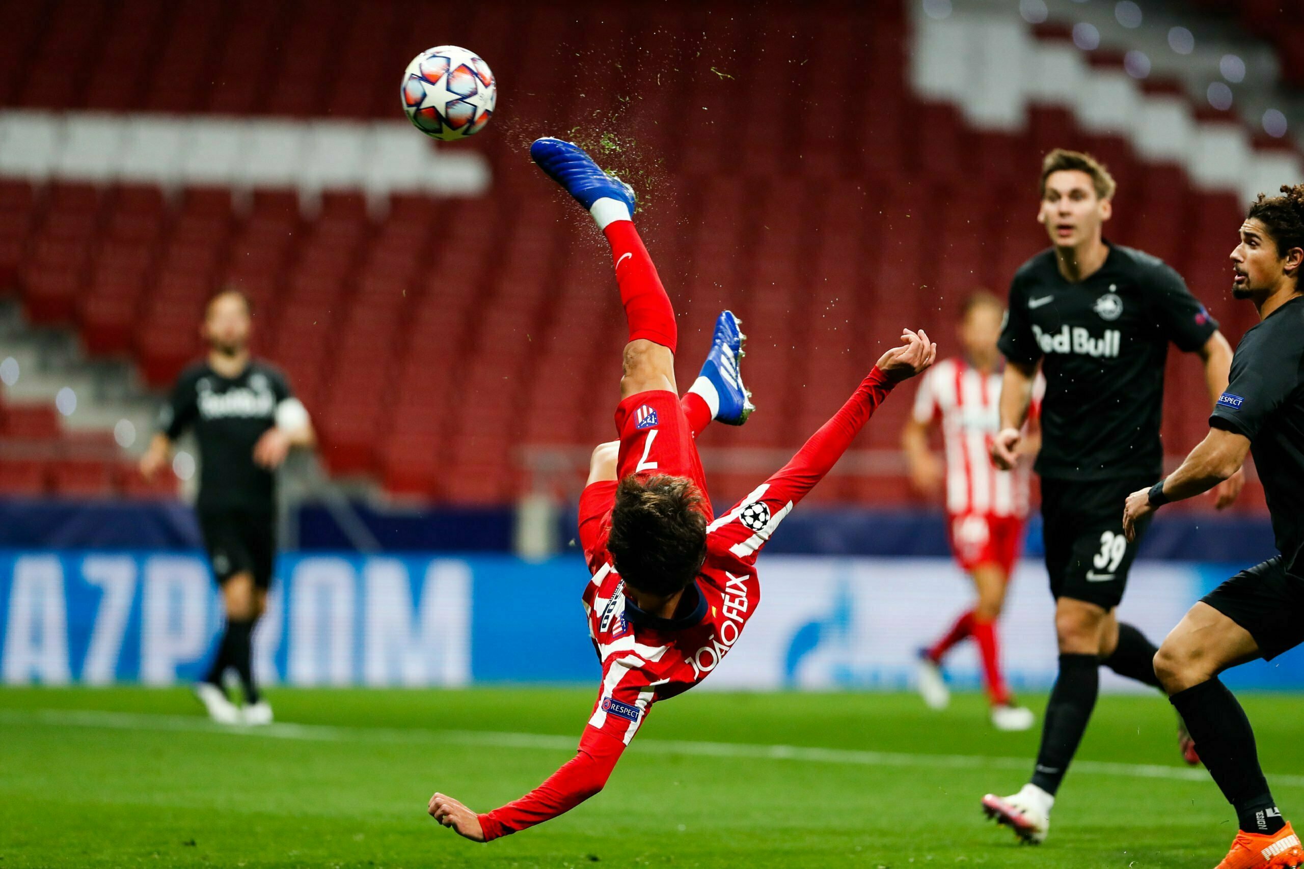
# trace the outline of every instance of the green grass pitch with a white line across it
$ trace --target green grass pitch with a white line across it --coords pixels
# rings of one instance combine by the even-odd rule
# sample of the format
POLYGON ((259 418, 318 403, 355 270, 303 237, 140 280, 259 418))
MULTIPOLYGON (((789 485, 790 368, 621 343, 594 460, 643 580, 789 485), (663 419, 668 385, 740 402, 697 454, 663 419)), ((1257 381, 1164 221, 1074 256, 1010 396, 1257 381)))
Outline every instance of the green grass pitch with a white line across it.
MULTIPOLYGON (((582 689, 270 692, 266 731, 210 727, 183 689, 0 689, 0 869, 20 866, 1213 866, 1235 833, 1180 766, 1158 696, 1097 706, 1041 847, 981 817, 1038 734, 982 700, 725 694, 661 704, 606 790, 472 844, 425 816, 485 810, 570 754, 582 689), (778 748, 776 748, 778 747, 778 748), (795 747, 795 748, 784 748, 795 747)), ((1043 698, 1034 700, 1041 711, 1043 698)), ((1304 817, 1304 698, 1249 696, 1283 812, 1304 817), (1274 775, 1275 774, 1275 775, 1274 775)))

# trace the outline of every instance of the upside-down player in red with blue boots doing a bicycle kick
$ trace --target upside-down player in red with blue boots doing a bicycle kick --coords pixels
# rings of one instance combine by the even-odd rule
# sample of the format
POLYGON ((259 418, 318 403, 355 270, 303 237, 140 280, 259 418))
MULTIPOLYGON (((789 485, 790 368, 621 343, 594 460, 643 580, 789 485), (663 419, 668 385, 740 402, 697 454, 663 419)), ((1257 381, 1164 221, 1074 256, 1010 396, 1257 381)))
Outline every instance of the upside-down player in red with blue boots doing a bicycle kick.
POLYGON ((696 685, 738 640, 760 601, 756 556, 778 524, 892 387, 936 354, 923 332, 906 331, 905 344, 879 360, 788 465, 715 519, 694 436, 712 417, 746 418, 737 330, 725 330, 724 341, 717 330, 694 386, 707 408, 694 410, 696 401, 677 392, 674 309, 634 228, 634 192, 569 142, 539 139, 531 156, 610 242, 630 330, 615 410, 619 443, 595 452, 579 506, 580 546, 593 573, 583 601, 602 684, 579 753, 532 792, 486 814, 443 793, 430 797, 436 821, 476 842, 557 817, 602 790, 652 704, 696 685))

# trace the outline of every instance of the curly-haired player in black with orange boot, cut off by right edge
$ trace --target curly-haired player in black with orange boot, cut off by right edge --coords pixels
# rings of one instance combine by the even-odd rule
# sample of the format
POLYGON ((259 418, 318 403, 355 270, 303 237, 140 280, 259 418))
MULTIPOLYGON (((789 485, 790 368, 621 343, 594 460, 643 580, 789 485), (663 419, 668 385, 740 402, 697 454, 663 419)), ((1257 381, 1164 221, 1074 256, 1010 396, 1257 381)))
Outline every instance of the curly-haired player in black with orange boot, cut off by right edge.
POLYGON ((1168 700, 1191 727, 1200 757, 1236 809, 1240 831, 1218 869, 1304 865, 1258 765, 1254 731, 1218 674, 1271 661, 1304 642, 1304 185, 1251 206, 1231 254, 1232 294, 1260 323, 1245 332, 1209 434, 1167 479, 1132 492, 1123 516, 1131 538, 1171 500, 1193 498, 1240 473, 1254 452, 1277 538, 1275 555, 1227 580, 1191 607, 1154 659, 1168 700))

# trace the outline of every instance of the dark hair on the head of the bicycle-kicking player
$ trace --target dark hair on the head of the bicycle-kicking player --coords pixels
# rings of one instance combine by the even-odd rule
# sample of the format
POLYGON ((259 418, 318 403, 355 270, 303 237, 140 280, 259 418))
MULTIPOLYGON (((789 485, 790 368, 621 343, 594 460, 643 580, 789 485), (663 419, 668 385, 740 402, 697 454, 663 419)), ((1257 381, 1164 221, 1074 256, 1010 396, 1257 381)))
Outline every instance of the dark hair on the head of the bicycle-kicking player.
POLYGON ((606 539, 621 578, 657 597, 687 588, 707 558, 702 507, 702 491, 686 477, 631 474, 622 479, 606 539))

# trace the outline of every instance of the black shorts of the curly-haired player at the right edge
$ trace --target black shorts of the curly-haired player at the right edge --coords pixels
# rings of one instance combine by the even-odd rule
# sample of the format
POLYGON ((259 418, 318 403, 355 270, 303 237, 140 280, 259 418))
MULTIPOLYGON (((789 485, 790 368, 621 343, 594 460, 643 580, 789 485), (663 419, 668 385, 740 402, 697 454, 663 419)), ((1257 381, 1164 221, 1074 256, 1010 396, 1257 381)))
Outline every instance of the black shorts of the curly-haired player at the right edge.
POLYGON ((1201 598, 1254 637, 1264 661, 1304 642, 1304 578, 1282 556, 1241 571, 1201 598))

